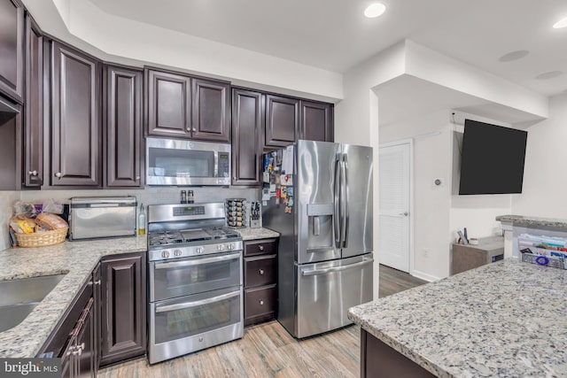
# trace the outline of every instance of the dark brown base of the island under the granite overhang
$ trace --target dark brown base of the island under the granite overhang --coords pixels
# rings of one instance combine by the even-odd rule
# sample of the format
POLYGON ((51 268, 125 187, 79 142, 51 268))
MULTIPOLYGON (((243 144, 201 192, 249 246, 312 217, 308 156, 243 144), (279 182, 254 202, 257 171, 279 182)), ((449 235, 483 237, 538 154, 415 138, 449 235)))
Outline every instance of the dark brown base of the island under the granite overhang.
POLYGON ((361 329, 361 377, 434 377, 422 366, 361 329))

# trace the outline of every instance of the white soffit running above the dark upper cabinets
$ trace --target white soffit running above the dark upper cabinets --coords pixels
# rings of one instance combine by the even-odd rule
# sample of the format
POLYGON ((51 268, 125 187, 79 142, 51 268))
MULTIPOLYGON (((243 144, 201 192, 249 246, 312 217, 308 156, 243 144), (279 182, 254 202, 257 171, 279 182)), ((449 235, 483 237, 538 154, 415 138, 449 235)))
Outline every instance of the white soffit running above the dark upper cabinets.
POLYGON ((342 74, 124 19, 88 0, 24 0, 44 32, 106 61, 169 66, 237 85, 336 102, 342 74))

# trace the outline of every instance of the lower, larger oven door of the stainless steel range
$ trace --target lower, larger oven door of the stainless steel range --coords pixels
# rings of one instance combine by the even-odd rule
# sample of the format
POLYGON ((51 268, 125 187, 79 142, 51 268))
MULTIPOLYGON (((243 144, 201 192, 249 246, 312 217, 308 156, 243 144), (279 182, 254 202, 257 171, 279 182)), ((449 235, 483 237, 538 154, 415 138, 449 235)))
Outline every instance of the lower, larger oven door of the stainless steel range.
POLYGON ((241 286, 149 306, 151 364, 236 340, 244 334, 241 286))

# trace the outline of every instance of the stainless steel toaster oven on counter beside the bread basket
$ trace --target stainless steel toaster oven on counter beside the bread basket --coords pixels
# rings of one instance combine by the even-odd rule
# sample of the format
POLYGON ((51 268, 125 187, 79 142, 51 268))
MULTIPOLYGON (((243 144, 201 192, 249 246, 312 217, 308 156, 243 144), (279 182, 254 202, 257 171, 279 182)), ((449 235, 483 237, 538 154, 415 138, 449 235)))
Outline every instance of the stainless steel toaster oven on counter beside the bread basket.
POLYGON ((69 240, 136 235, 136 197, 73 197, 69 240))

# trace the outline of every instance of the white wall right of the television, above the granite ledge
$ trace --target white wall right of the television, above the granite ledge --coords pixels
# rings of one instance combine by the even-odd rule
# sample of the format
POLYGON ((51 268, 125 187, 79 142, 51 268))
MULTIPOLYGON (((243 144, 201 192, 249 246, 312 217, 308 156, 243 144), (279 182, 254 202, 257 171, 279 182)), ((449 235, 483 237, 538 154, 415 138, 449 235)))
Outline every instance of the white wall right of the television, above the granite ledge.
POLYGON ((567 219, 567 94, 550 99, 550 117, 527 128, 522 194, 512 198, 517 215, 567 219))

